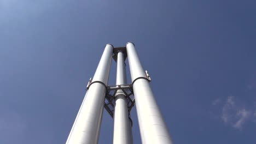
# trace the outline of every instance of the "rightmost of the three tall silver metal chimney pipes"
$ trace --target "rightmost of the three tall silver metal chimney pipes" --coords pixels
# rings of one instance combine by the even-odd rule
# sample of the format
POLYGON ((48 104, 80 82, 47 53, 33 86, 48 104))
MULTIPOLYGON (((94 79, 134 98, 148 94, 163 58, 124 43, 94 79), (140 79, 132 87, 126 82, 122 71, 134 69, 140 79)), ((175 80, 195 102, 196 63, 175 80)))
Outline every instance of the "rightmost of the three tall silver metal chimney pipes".
POLYGON ((159 107, 156 104, 149 81, 141 78, 137 79, 138 77, 146 77, 146 75, 139 61, 135 45, 127 43, 126 50, 133 82, 133 95, 136 100, 136 110, 142 143, 171 144, 172 140, 170 134, 168 133, 159 107))

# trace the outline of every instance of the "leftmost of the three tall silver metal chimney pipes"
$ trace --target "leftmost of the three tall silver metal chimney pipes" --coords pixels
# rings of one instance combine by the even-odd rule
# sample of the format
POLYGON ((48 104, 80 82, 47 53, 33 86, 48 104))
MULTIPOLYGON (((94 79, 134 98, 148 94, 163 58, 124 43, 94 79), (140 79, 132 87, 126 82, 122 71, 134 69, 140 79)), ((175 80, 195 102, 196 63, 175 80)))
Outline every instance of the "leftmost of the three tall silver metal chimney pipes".
POLYGON ((66 144, 98 143, 112 54, 113 46, 107 44, 66 144))

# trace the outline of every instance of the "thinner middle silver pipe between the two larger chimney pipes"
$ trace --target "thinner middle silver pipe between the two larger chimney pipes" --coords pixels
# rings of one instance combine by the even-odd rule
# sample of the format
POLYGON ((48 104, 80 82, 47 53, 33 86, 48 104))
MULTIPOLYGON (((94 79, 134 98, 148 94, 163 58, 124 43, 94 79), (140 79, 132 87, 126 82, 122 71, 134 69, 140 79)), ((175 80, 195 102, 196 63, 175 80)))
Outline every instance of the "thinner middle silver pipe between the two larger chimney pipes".
MULTIPOLYGON (((119 51, 117 56, 116 85, 126 84, 125 70, 124 53, 119 51)), ((118 90, 117 94, 115 94, 113 143, 132 144, 132 131, 127 109, 127 98, 122 90, 118 90)))

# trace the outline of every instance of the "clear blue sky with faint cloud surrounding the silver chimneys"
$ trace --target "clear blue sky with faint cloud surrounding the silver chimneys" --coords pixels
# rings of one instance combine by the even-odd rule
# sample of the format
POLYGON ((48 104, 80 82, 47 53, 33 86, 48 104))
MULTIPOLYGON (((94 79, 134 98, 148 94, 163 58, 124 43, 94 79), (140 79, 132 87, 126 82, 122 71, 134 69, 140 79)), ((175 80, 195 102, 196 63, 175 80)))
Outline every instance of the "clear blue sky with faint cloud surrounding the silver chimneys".
POLYGON ((104 46, 128 41, 174 143, 256 143, 255 4, 0 0, 0 143, 65 143, 104 46))

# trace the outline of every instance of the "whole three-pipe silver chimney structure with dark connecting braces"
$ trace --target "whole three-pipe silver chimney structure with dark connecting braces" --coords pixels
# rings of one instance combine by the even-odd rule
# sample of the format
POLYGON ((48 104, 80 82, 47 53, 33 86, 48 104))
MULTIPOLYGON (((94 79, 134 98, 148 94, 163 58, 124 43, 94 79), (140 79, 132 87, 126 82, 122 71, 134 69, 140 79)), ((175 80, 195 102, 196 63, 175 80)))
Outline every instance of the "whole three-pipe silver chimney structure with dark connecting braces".
POLYGON ((132 144, 130 111, 135 105, 143 144, 172 144, 164 119, 150 88, 151 78, 139 61, 135 45, 113 47, 107 44, 93 79, 75 118, 66 144, 96 144, 100 134, 103 107, 114 118, 114 144, 132 144), (112 57, 117 62, 115 86, 108 86, 112 57), (126 82, 126 57, 129 59, 132 83, 126 82))

